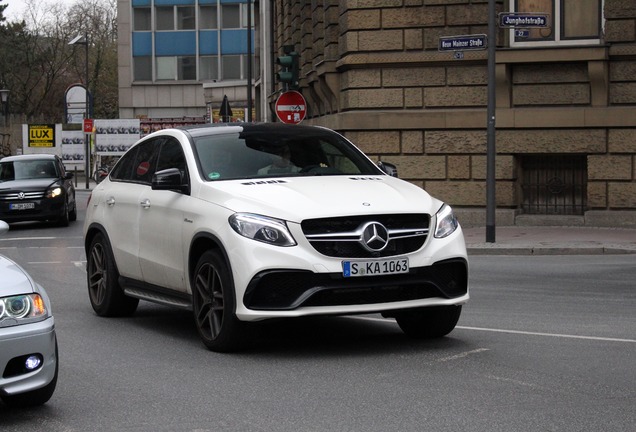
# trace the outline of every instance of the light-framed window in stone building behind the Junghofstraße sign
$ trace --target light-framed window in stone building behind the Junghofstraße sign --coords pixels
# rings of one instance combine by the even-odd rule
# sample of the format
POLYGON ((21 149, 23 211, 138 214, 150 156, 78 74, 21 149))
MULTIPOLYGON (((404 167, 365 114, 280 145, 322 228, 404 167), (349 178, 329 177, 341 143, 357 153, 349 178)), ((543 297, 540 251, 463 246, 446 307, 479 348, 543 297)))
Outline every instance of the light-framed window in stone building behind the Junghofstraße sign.
POLYGON ((547 28, 511 29, 512 46, 589 45, 600 43, 603 0, 515 0, 519 14, 550 16, 547 28))

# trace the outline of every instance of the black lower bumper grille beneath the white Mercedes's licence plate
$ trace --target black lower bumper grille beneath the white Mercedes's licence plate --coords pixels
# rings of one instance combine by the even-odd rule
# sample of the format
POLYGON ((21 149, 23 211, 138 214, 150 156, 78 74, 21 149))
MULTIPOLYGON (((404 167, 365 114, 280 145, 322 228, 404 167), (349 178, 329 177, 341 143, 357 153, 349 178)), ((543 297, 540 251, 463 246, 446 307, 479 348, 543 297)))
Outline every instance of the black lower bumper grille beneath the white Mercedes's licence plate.
POLYGON ((463 259, 411 269, 407 274, 345 278, 342 274, 276 270, 257 275, 249 284, 245 305, 256 310, 345 306, 456 298, 468 292, 463 259))

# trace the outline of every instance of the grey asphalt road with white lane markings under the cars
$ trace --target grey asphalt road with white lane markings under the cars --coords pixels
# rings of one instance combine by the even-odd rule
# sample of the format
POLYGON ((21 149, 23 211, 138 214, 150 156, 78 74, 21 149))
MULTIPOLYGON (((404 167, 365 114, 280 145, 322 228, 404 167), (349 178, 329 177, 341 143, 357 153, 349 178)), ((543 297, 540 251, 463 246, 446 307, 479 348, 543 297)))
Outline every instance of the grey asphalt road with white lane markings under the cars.
POLYGON ((48 291, 56 393, 9 431, 634 431, 636 258, 478 256, 449 337, 415 342, 378 315, 278 321, 251 349, 207 351, 190 314, 89 304, 79 220, 28 225, 0 253, 48 291))

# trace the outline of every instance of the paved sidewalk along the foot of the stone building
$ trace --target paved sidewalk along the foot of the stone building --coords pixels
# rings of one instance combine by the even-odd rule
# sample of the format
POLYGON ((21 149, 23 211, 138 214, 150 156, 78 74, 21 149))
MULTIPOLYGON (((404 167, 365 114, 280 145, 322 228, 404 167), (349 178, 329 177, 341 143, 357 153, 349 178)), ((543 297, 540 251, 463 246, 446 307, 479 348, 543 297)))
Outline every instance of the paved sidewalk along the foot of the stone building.
POLYGON ((469 255, 636 254, 636 229, 628 228, 501 226, 487 243, 478 227, 464 228, 464 238, 469 255))

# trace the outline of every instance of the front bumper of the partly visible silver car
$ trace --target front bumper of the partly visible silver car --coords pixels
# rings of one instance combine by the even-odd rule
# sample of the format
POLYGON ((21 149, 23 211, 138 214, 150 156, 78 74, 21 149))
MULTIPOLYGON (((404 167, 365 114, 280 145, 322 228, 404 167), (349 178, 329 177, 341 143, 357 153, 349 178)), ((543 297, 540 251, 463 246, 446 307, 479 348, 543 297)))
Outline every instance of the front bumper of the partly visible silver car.
POLYGON ((14 395, 37 390, 55 377, 55 321, 44 321, 0 328, 0 394, 14 395), (18 373, 11 360, 40 354, 42 365, 31 372, 18 373))

